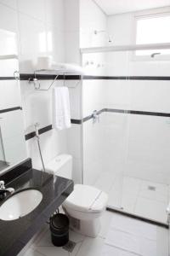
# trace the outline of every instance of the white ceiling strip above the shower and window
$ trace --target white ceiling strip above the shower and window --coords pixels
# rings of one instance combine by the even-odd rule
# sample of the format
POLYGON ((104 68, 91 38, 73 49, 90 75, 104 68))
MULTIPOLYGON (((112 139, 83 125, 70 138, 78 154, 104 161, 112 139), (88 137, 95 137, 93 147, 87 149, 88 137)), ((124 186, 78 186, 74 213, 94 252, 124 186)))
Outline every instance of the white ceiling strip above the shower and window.
POLYGON ((106 15, 170 6, 170 0, 94 0, 106 15))

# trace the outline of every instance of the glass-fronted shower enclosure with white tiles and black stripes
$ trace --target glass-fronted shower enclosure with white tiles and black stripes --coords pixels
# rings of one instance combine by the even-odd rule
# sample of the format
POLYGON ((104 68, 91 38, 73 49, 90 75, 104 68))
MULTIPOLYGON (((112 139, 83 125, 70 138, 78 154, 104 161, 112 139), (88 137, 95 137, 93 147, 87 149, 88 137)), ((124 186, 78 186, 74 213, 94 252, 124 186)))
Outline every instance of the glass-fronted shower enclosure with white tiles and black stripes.
POLYGON ((170 193, 167 48, 82 50, 83 183, 108 193, 108 208, 161 224, 170 193))

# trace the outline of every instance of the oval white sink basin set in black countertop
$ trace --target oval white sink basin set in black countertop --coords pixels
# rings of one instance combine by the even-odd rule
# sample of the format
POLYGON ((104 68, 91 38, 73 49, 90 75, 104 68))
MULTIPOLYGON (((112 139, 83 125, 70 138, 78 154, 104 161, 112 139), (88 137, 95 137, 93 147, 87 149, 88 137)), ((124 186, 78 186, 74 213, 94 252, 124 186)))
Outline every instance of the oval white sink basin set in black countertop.
POLYGON ((0 219, 14 220, 32 212, 42 201, 42 193, 37 189, 23 190, 12 195, 0 207, 0 219))

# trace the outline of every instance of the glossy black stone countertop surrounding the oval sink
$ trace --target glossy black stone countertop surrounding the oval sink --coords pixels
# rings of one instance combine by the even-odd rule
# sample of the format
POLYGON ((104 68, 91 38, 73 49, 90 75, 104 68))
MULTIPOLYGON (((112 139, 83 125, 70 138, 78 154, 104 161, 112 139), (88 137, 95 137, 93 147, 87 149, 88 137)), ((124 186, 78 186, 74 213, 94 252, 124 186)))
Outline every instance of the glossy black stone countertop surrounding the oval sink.
MULTIPOLYGON (((14 176, 8 187, 14 188, 14 193, 23 189, 38 189, 42 192, 42 201, 36 209, 22 218, 12 221, 0 220, 0 256, 15 256, 20 253, 37 230, 71 194, 73 182, 64 177, 30 169, 19 177, 14 176)), ((0 204, 2 203, 3 201, 0 201, 0 204)))

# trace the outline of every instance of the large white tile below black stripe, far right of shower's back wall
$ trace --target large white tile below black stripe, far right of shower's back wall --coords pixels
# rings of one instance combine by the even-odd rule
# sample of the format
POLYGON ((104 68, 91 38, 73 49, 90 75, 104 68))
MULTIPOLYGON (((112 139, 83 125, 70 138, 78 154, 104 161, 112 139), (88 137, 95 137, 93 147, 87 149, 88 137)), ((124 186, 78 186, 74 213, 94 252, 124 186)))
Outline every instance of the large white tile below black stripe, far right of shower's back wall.
POLYGON ((129 116, 126 173, 158 183, 168 183, 169 126, 166 118, 129 116))

